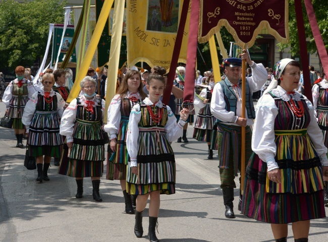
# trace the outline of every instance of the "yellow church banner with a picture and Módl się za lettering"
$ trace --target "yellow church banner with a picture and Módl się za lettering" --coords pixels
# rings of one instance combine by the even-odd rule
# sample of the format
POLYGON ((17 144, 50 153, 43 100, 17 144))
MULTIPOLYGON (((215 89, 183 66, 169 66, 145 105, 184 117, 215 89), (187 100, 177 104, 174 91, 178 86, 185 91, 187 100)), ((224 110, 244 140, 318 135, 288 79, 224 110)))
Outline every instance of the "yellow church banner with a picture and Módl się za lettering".
MULTIPOLYGON (((170 69, 183 0, 127 0, 128 65, 170 69)), ((186 63, 190 8, 179 63, 186 63)))

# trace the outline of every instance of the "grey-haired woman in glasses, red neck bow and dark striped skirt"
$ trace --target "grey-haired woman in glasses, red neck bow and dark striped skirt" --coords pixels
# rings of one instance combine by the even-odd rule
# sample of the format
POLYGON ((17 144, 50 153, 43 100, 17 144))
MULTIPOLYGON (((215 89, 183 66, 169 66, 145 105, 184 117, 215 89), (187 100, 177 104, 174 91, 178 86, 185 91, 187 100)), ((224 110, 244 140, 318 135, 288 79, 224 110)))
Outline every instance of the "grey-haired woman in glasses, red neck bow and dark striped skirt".
POLYGON ((102 132, 105 101, 96 97, 96 81, 89 76, 80 82, 82 94, 65 109, 60 134, 66 136, 58 173, 75 177, 76 198, 83 195, 83 177, 91 177, 92 196, 97 202, 103 172, 104 132, 102 132))

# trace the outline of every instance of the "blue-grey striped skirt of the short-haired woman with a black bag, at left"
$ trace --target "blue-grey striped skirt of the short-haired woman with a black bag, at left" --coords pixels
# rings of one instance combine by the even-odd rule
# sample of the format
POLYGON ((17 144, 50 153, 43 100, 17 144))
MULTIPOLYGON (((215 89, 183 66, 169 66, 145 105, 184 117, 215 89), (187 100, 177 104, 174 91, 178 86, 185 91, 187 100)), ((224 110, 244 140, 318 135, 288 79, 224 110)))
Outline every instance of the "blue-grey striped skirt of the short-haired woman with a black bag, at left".
POLYGON ((57 112, 35 111, 28 136, 29 156, 60 158, 63 140, 59 134, 59 126, 57 112))

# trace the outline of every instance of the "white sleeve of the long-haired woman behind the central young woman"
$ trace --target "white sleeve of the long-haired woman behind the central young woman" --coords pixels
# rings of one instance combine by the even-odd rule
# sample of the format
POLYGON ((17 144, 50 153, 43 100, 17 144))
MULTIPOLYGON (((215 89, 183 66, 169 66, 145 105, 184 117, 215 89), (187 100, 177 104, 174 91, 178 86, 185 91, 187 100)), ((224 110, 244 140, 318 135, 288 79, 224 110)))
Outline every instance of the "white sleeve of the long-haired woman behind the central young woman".
POLYGON ((121 96, 115 95, 107 110, 107 124, 104 130, 110 134, 110 138, 117 138, 121 122, 121 96))

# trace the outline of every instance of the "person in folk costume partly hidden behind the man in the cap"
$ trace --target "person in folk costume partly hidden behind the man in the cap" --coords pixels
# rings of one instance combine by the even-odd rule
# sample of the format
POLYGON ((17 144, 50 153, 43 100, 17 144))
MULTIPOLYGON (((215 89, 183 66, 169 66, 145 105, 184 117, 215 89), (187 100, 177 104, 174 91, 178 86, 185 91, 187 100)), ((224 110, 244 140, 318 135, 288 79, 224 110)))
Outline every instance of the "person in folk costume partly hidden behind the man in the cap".
MULTIPOLYGON (((199 107, 200 110, 196 117, 196 122, 194 124, 194 134, 192 138, 207 142, 208 145, 208 159, 213 159, 213 150, 211 149, 211 141, 215 142, 215 139, 212 139, 212 136, 216 134, 213 129, 215 125, 215 118, 210 110, 210 103, 212 97, 212 91, 214 87, 214 76, 209 74, 208 76, 208 87, 204 88, 194 100, 195 106, 199 107)), ((215 146, 215 144, 214 144, 215 146)))

